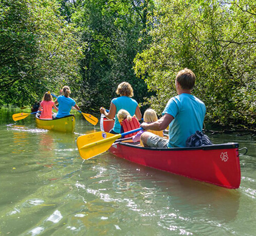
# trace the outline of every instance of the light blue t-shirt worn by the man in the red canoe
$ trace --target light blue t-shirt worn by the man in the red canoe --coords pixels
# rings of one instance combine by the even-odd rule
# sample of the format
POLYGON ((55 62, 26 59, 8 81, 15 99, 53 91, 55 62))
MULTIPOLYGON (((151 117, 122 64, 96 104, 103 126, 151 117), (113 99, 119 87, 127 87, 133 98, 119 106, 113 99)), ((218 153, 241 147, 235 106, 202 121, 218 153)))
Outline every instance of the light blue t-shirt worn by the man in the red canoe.
POLYGON ((172 97, 162 115, 170 114, 169 147, 186 147, 186 141, 196 130, 202 131, 206 113, 205 104, 197 97, 182 93, 172 97))

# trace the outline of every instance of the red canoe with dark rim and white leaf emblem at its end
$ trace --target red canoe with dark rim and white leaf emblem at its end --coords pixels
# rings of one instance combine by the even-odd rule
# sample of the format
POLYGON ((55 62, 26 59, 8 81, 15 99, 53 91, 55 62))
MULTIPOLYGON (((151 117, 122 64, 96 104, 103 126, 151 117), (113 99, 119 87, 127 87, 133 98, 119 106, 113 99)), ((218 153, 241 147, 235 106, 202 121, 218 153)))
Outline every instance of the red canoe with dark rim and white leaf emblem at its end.
MULTIPOLYGON (((101 117, 101 130, 108 132, 113 121, 101 117), (111 125, 110 125, 111 124, 111 125)), ((193 148, 146 148, 138 143, 113 144, 109 151, 119 158, 225 188, 241 182, 239 144, 228 143, 193 148)))

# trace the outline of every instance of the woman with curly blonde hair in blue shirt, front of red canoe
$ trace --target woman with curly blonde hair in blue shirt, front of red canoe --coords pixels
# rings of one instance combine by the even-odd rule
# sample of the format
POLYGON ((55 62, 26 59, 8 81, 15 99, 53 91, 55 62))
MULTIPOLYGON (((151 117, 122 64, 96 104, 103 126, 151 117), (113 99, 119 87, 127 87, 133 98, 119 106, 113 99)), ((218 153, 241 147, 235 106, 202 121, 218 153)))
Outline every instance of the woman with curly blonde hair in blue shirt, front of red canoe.
POLYGON ((101 107, 100 113, 104 114, 109 120, 116 118, 114 127, 109 133, 118 134, 121 131, 121 126, 117 118, 117 113, 120 109, 128 111, 132 116, 136 115, 137 119, 141 119, 141 112, 138 106, 138 103, 132 99, 133 97, 133 88, 127 82, 122 82, 118 85, 116 93, 120 95, 116 99, 113 99, 110 104, 109 112, 101 107))

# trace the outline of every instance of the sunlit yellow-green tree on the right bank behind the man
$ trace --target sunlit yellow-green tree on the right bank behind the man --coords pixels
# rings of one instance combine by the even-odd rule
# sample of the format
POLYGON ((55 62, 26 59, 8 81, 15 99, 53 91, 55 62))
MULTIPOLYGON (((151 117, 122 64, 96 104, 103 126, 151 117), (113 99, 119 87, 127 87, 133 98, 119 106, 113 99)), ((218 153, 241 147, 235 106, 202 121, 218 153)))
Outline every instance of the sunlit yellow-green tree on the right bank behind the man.
POLYGON ((137 76, 157 95, 160 113, 177 71, 192 69, 193 94, 207 106, 208 122, 255 126, 256 8, 253 1, 162 0, 151 23, 152 43, 135 58, 137 76))

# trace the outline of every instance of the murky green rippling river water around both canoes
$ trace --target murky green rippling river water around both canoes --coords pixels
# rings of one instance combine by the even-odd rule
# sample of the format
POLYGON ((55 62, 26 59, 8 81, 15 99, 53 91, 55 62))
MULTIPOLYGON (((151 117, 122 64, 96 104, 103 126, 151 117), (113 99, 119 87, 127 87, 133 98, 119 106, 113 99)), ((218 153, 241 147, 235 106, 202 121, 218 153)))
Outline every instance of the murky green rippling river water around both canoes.
POLYGON ((211 136, 248 148, 241 186, 232 190, 108 152, 84 161, 76 139, 99 125, 78 113, 75 133, 65 134, 36 128, 33 115, 13 122, 19 112, 0 109, 0 235, 256 235, 250 135, 211 136))

